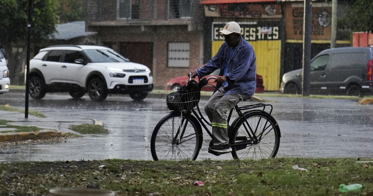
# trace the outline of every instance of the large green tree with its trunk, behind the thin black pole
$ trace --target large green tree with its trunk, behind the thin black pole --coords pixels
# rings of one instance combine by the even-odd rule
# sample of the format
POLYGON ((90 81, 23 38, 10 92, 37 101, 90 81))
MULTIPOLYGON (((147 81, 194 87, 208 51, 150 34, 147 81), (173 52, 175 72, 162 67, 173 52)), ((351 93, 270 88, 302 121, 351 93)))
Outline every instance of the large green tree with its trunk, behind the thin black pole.
MULTIPOLYGON (((0 0, 0 43, 7 52, 12 84, 20 85, 25 65, 28 0, 0 0)), ((32 0, 31 42, 46 40, 56 31, 56 0, 32 0)))

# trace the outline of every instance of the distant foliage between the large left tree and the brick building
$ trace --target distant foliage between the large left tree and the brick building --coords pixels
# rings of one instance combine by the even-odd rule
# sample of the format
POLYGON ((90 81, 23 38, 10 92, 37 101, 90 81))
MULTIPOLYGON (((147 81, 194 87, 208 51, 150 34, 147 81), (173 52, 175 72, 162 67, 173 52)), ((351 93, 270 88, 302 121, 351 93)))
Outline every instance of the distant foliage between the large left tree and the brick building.
POLYGON ((60 0, 59 1, 60 23, 84 21, 85 4, 84 0, 60 0))

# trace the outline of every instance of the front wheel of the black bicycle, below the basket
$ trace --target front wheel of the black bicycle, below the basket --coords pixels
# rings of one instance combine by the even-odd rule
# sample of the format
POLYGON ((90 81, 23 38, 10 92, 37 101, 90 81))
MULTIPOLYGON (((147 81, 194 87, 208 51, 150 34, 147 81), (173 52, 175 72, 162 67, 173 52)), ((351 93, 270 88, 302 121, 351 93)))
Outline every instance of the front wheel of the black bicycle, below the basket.
POLYGON ((158 122, 150 140, 151 156, 154 161, 178 161, 182 159, 194 161, 197 159, 202 146, 202 128, 194 116, 190 115, 188 121, 186 121, 186 116, 187 114, 183 113, 182 121, 180 121, 180 113, 173 112, 164 116, 158 122), (180 122, 182 122, 182 130, 186 122, 188 123, 183 134, 185 137, 181 138, 180 143, 178 143, 175 136, 178 136, 180 122), (173 136, 172 130, 174 130, 173 136))

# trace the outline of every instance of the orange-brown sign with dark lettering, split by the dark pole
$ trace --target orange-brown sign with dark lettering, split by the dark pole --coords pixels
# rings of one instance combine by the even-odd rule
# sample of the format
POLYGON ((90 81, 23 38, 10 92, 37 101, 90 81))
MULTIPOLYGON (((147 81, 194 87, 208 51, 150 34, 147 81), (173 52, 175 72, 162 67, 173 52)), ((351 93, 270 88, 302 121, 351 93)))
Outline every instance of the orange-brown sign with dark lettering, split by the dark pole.
MULTIPOLYGON (((328 5, 328 4, 326 4, 328 5)), ((304 7, 300 3, 287 4, 285 7, 286 38, 303 39, 304 7)), ((325 4, 314 3, 312 7, 312 40, 330 40, 332 8, 325 4), (314 6, 315 5, 315 6, 314 6)))

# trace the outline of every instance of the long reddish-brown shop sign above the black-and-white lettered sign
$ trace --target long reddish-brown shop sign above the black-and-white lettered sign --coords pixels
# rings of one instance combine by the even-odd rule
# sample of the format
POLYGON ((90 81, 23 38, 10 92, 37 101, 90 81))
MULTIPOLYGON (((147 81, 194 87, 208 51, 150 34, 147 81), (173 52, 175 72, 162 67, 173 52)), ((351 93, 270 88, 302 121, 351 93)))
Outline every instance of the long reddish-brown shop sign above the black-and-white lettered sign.
POLYGON ((209 4, 204 10, 209 17, 282 18, 279 4, 209 4))

